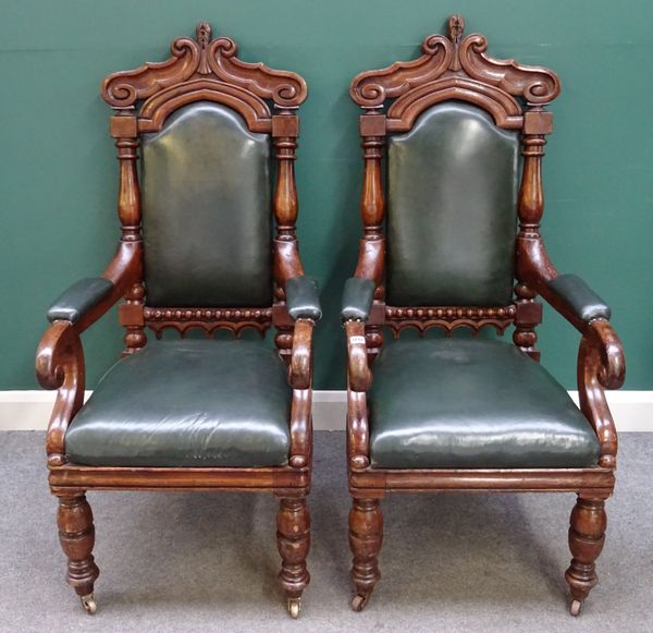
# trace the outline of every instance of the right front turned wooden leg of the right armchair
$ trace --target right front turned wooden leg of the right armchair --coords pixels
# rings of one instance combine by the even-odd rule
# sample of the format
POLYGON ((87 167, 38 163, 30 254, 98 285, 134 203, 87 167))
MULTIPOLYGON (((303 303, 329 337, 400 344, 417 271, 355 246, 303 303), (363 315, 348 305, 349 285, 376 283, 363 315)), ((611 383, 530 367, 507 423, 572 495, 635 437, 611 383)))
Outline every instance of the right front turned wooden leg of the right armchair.
POLYGON ((582 602, 599 582, 595 561, 605 541, 606 516, 602 499, 578 497, 571 511, 569 527, 569 549, 571 564, 565 579, 571 589, 570 613, 578 616, 582 602))

